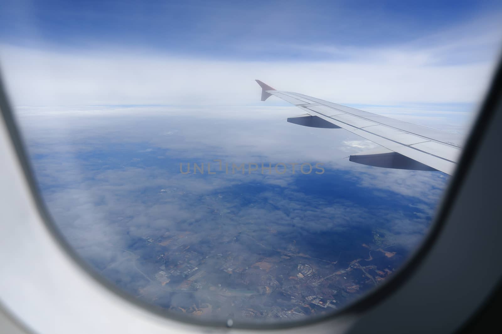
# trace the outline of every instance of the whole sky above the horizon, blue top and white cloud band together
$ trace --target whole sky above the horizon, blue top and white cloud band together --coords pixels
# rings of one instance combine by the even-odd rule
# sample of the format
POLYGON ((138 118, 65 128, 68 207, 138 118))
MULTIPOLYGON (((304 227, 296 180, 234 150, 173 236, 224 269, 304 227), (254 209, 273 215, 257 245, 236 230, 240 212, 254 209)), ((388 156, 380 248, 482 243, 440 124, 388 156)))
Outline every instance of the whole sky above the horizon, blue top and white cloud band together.
POLYGON ((466 124, 500 50, 499 2, 315 4, 12 1, 0 65, 17 106, 257 106, 260 79, 466 124))

